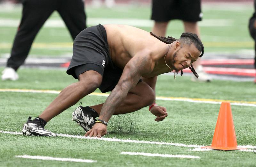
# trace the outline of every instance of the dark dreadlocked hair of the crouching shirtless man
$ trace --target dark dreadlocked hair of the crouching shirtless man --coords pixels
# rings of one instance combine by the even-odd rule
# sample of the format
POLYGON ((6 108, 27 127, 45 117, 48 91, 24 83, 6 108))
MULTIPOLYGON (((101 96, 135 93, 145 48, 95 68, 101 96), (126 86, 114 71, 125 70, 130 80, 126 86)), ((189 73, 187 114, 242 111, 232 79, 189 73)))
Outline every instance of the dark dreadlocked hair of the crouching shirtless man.
MULTIPOLYGON (((180 41, 181 45, 187 44, 188 46, 190 46, 193 43, 195 45, 195 47, 201 52, 199 57, 202 57, 204 54, 204 45, 203 45, 202 41, 198 38, 198 36, 194 33, 182 33, 180 36, 180 39, 176 39, 176 38, 173 38, 170 36, 167 36, 167 38, 162 37, 162 36, 156 36, 152 32, 150 32, 150 34, 166 44, 171 44, 175 40, 180 41)), ((198 78, 198 74, 196 73, 196 70, 194 69, 192 64, 189 66, 189 69, 193 72, 193 74, 196 76, 196 78, 198 78)), ((181 70, 180 75, 182 76, 182 74, 183 74, 183 71, 181 70)))

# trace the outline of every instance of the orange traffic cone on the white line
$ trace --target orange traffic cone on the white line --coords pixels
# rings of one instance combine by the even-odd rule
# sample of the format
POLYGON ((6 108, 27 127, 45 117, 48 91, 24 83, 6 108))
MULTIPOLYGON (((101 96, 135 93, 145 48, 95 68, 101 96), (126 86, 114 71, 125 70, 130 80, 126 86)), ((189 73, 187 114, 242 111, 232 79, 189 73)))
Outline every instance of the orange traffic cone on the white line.
POLYGON ((201 148, 219 150, 245 149, 237 148, 236 132, 229 102, 222 102, 220 105, 220 112, 212 138, 212 145, 201 148))

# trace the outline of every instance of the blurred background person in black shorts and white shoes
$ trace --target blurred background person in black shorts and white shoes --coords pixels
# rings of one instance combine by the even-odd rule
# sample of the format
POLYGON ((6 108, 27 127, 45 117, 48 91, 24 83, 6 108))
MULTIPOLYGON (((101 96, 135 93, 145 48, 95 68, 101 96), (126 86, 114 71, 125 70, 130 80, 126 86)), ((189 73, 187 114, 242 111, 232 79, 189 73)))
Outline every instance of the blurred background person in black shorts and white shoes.
MULTIPOLYGON (((200 0, 152 0, 151 19, 155 21, 152 32, 158 36, 165 36, 170 20, 179 19, 183 21, 185 32, 195 33, 199 38, 199 27, 197 21, 202 20, 200 0)), ((212 78, 203 71, 201 59, 193 63, 197 74, 192 76, 192 81, 210 82, 212 78)))

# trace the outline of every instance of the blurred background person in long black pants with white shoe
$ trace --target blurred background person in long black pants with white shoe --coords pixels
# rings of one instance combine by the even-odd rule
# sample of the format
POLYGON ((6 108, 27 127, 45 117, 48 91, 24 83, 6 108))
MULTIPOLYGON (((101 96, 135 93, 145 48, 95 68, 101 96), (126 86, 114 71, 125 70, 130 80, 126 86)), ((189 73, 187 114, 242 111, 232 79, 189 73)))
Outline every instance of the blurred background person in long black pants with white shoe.
POLYGON ((86 28, 84 1, 82 0, 23 0, 22 17, 16 33, 11 56, 2 72, 2 80, 17 80, 17 70, 25 62, 31 45, 44 22, 53 11, 58 11, 75 40, 86 28))

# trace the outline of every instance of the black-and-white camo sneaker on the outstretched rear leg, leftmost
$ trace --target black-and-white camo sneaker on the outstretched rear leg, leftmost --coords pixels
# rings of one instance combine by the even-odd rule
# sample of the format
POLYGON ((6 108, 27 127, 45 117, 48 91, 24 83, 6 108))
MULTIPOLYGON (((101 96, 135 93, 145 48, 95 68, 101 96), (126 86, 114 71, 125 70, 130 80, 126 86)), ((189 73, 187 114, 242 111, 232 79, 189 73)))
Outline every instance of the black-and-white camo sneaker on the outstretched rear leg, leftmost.
POLYGON ((39 117, 36 117, 34 120, 31 120, 31 117, 28 117, 28 121, 22 128, 22 133, 26 136, 57 136, 55 133, 44 129, 45 124, 46 122, 39 117))

